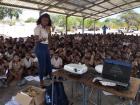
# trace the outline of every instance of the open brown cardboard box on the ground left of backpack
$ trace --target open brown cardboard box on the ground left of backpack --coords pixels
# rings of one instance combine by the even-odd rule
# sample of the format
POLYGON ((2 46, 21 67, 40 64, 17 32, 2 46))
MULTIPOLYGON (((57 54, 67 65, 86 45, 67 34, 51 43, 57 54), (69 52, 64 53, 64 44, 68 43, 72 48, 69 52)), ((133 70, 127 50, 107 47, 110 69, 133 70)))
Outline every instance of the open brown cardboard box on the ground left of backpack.
POLYGON ((45 100, 45 90, 29 86, 17 93, 16 101, 21 105, 43 105, 45 100))

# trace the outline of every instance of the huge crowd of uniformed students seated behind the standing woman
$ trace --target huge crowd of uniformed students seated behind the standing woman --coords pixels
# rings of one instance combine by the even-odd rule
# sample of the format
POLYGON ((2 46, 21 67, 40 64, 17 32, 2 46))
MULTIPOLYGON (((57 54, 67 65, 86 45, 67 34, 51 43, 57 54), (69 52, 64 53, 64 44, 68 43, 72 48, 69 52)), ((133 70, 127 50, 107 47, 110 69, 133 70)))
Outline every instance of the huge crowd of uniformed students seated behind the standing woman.
MULTIPOLYGON (((34 54, 36 37, 0 37, 0 75, 7 73, 7 83, 24 76, 36 75, 37 57, 34 54), (8 70, 8 72, 7 72, 8 70)), ((52 35, 49 43, 53 68, 68 63, 83 63, 90 67, 102 64, 106 58, 132 63, 132 76, 139 76, 140 36, 107 35, 52 35)))

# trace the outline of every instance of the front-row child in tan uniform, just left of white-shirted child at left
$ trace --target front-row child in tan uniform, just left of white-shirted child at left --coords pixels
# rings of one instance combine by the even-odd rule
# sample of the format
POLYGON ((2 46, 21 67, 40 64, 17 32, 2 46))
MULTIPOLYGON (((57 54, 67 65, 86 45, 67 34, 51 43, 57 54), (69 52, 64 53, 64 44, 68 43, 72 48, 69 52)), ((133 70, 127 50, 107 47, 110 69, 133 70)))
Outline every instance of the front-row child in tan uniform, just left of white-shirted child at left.
POLYGON ((12 82, 12 80, 16 80, 17 83, 22 79, 23 74, 23 66, 21 59, 18 54, 14 55, 14 58, 9 63, 9 73, 8 73, 8 84, 12 82))

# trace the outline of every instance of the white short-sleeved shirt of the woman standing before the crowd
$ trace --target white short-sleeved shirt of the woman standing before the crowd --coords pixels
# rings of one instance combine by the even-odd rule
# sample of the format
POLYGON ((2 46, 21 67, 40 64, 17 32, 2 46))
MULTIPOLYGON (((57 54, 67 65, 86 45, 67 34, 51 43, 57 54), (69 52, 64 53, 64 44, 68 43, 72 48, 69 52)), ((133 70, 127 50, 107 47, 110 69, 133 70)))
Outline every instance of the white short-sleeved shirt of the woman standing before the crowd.
POLYGON ((42 41, 43 44, 48 44, 48 32, 47 29, 43 28, 41 25, 37 25, 34 29, 34 35, 38 35, 39 38, 46 38, 45 41, 42 41))

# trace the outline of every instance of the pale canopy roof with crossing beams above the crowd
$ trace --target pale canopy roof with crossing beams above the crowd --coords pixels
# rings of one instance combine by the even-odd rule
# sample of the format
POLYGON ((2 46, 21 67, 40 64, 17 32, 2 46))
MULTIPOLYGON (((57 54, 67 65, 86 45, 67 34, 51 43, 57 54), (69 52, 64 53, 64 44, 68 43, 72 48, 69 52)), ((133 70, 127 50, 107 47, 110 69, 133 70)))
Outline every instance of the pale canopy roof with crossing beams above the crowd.
POLYGON ((140 0, 0 0, 0 5, 101 19, 140 7, 140 0))

